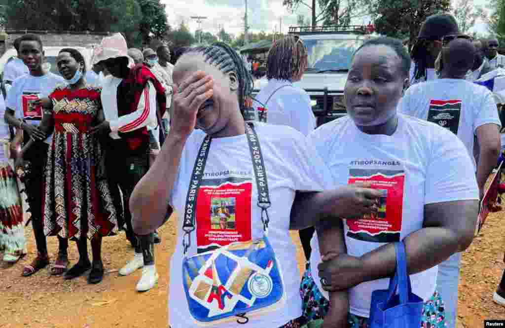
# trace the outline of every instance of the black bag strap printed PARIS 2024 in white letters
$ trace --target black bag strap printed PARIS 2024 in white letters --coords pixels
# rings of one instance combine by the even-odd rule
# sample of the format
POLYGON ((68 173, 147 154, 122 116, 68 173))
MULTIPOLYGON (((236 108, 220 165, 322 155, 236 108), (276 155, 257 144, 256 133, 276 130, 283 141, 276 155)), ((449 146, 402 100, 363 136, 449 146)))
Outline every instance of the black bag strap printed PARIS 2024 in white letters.
MULTIPOLYGON (((245 124, 245 134, 247 143, 249 145, 249 152, 252 158, 252 167, 254 168, 256 184, 258 186, 258 206, 261 208, 261 220, 263 222, 263 229, 267 232, 268 223, 270 218, 268 216, 268 208, 271 206, 270 194, 268 191, 267 172, 265 170, 265 162, 258 140, 254 124, 245 124)), ((186 196, 186 205, 184 207, 182 230, 184 236, 182 246, 184 255, 187 253, 191 245, 191 232, 195 229, 195 215, 196 215, 196 197, 198 195, 198 188, 201 184, 201 179, 204 175, 205 165, 209 157, 209 150, 212 138, 206 136, 204 142, 201 144, 196 161, 194 163, 193 172, 191 173, 191 180, 189 182, 189 189, 186 196)))

